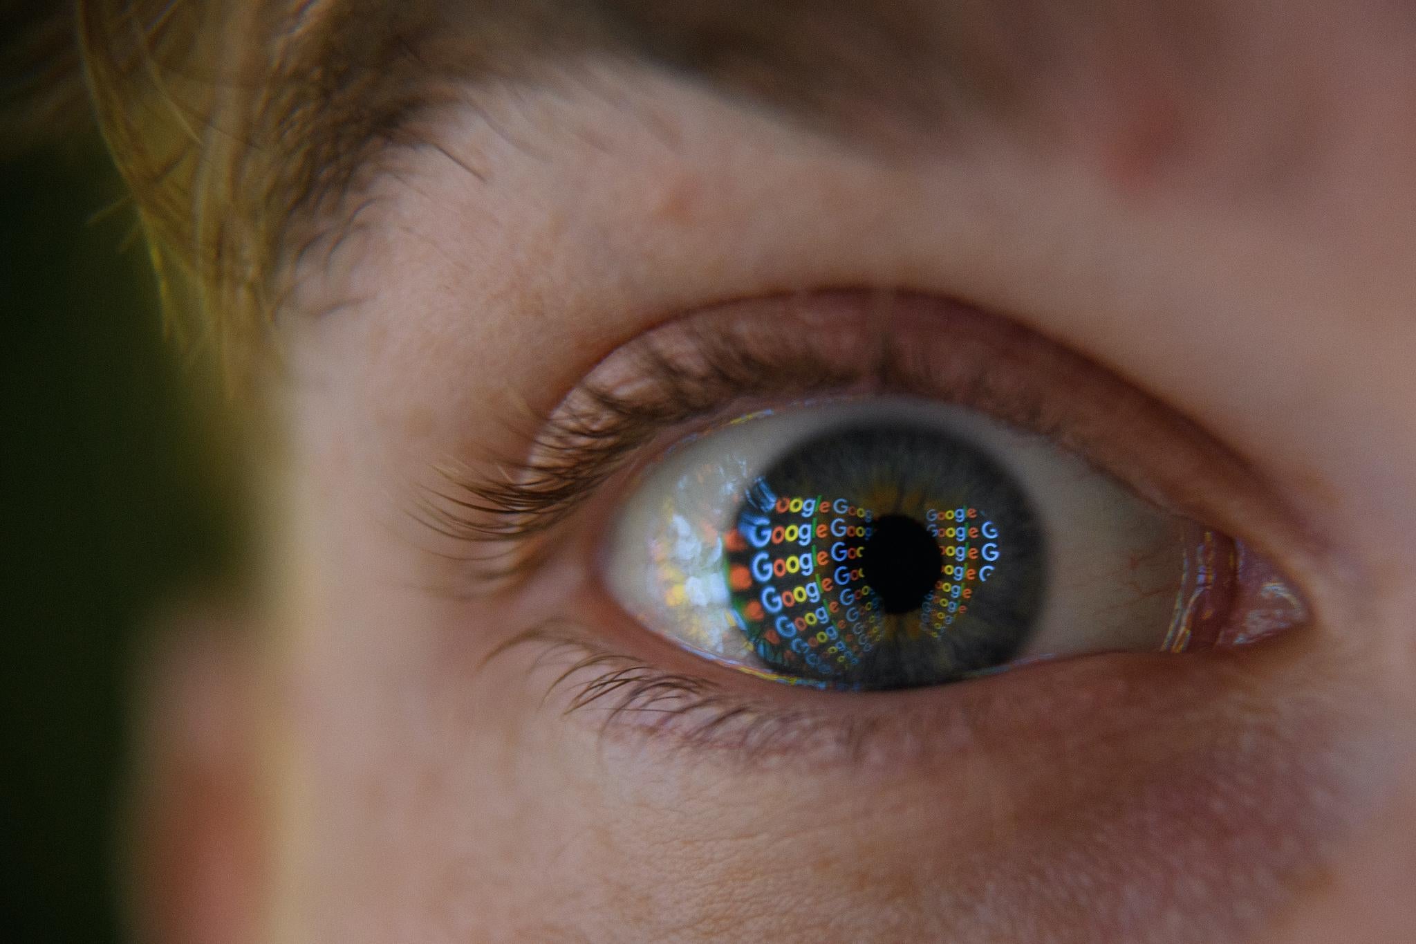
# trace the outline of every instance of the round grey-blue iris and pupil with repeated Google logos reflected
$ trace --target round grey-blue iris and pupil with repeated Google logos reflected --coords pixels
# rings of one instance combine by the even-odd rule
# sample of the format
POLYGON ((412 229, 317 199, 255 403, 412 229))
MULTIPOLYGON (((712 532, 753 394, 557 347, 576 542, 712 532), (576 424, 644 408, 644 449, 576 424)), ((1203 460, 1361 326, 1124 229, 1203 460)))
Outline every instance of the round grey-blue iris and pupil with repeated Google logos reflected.
POLYGON ((748 490, 724 535, 729 618, 786 675, 946 681, 1018 650, 1042 543, 1027 497, 973 446, 927 427, 831 430, 748 490))

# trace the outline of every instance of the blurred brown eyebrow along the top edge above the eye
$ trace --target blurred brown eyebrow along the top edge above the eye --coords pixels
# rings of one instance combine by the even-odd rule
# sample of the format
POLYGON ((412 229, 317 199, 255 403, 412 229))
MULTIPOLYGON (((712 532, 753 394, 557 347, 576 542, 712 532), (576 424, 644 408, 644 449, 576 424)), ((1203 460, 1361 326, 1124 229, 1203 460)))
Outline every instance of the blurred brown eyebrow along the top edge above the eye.
MULTIPOLYGON (((354 190, 378 146, 426 143, 409 119, 455 103, 457 84, 515 81, 590 52, 671 69, 854 143, 939 143, 981 120, 1055 123, 1058 88, 1099 86, 1099 75, 1134 84, 1137 72, 1204 72, 1219 55, 1222 6, 330 0, 307 4, 287 31, 263 123, 297 151, 275 187, 297 208, 354 190)), ((1154 126, 1144 133, 1155 137, 1154 126)))

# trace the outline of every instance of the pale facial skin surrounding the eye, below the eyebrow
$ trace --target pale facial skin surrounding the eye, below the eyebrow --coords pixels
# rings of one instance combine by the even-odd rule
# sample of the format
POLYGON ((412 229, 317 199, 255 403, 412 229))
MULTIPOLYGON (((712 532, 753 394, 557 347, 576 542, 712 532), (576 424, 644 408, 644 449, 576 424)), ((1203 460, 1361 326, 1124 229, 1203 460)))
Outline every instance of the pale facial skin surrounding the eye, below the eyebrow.
MULTIPOLYGON (((1376 13, 1332 6, 1260 31, 1240 4, 1226 27, 1272 40, 1239 44, 1267 57, 1247 71, 1059 81, 1037 120, 906 120, 915 99, 872 112, 871 86, 797 120, 750 81, 595 54, 425 113, 289 273, 262 385, 276 576, 259 644, 227 657, 245 674, 222 669, 249 713, 221 737, 261 760, 194 747, 217 785, 183 814, 211 858, 256 852, 170 869, 173 936, 1402 940, 1416 67, 1376 13), (411 512, 442 467, 524 457, 525 427, 654 327, 733 303, 889 330, 905 297, 1003 316, 1202 429, 1239 471, 1197 466, 1187 511, 1260 548, 1311 623, 872 695, 719 671, 813 730, 874 719, 868 750, 749 759, 565 713, 564 662, 513 644, 556 618, 711 671, 596 592, 623 481, 486 586, 411 512)), ((1130 432, 1137 464, 1188 456, 1130 432)))

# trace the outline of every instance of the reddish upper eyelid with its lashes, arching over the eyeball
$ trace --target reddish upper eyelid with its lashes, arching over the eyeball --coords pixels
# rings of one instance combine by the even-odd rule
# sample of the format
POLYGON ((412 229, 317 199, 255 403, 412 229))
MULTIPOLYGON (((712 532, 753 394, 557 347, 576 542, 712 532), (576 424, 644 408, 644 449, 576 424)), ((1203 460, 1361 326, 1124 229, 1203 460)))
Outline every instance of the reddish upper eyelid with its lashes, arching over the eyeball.
POLYGON ((725 410, 746 412, 753 396, 780 403, 885 391, 957 402, 1049 436, 1157 505, 1239 534, 1274 559, 1293 551, 1311 562, 1298 570, 1320 570, 1320 548, 1276 490, 1174 409, 1017 323, 878 290, 729 303, 651 328, 534 418, 518 436, 521 456, 439 468, 421 487, 415 517, 457 543, 473 582, 515 576, 539 559, 528 546, 657 437, 728 420, 725 410), (1147 454, 1157 451, 1165 454, 1147 454), (1131 474, 1137 464, 1144 474, 1131 474), (1243 534, 1246 524, 1274 534, 1243 534))

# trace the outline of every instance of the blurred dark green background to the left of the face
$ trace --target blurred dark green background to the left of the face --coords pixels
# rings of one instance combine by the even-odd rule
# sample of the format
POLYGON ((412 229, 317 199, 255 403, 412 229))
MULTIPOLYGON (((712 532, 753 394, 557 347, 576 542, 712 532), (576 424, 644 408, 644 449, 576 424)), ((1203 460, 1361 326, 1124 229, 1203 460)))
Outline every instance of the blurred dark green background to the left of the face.
POLYGON ((132 660, 229 560, 135 217, 96 142, 0 164, 0 941, 125 940, 132 660))

